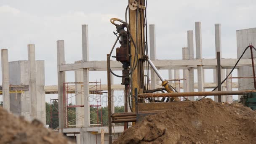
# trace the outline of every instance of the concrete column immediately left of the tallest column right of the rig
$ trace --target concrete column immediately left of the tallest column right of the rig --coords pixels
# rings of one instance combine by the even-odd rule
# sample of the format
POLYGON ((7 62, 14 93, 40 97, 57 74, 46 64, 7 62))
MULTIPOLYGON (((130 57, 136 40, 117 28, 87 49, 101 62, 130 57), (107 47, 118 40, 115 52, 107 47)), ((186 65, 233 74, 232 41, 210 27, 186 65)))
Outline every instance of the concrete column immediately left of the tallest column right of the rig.
MULTIPOLYGON (((187 31, 187 47, 189 51, 189 59, 194 59, 194 38, 193 31, 187 31)), ((189 69, 189 92, 195 91, 194 69, 189 69)), ((190 101, 195 101, 195 96, 189 96, 190 101)))

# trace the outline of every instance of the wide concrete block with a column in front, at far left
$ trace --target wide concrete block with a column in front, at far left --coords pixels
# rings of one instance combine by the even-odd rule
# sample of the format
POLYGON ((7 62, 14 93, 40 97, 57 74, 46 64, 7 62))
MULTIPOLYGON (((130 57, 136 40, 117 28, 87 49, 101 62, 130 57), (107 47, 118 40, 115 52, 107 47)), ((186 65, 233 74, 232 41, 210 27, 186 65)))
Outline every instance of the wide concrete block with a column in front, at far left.
MULTIPOLYGON (((8 53, 5 53, 5 56, 8 57, 8 53)), ((35 45, 28 45, 28 59, 28 61, 7 61, 8 64, 2 61, 5 62, 2 67, 8 66, 9 69, 9 76, 6 76, 5 72, 3 73, 5 76, 2 76, 5 78, 3 95, 6 93, 5 85, 8 85, 8 93, 9 85, 16 85, 14 90, 10 89, 14 93, 10 93, 9 100, 4 98, 3 104, 8 104, 14 115, 23 115, 29 121, 37 118, 45 124, 44 61, 35 61, 35 45), (6 84, 7 77, 8 84, 6 84), (17 92, 17 88, 21 88, 21 91, 17 92)), ((6 70, 5 67, 2 70, 6 70)))

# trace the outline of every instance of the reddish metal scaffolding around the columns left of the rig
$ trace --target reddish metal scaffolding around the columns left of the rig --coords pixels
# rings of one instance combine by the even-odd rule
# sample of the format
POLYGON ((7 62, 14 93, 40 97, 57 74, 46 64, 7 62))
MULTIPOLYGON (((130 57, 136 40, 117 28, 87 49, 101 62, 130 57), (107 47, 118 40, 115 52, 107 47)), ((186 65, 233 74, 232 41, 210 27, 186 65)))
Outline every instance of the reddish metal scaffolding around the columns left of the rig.
MULTIPOLYGON (((76 108, 84 107, 83 104, 77 105, 72 103, 72 98, 81 94, 84 95, 83 91, 72 88, 71 85, 74 84, 83 84, 83 82, 74 82, 74 83, 63 83, 63 101, 64 101, 64 128, 73 128, 76 126, 82 127, 84 124, 77 125, 76 121, 84 118, 84 114, 77 113, 76 108), (75 95, 74 95, 75 93, 75 95), (72 95, 73 94, 73 95, 72 95)), ((89 82, 90 90, 89 98, 95 101, 95 104, 90 104, 90 125, 91 126, 102 126, 102 108, 101 108, 101 81, 89 82), (95 116, 96 115, 96 116, 95 116)), ((82 90, 82 88, 81 88, 82 90)))

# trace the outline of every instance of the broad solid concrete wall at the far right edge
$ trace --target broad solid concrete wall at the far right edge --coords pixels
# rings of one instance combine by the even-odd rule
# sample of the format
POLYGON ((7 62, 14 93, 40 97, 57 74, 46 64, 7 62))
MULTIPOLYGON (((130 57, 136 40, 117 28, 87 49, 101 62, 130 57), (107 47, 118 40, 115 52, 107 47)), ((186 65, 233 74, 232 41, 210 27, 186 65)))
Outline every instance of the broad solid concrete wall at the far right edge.
MULTIPOLYGON (((237 30, 237 58, 239 58, 248 45, 256 45, 256 28, 237 30)), ((253 58, 256 57, 253 50, 253 58)), ((250 48, 245 52, 242 59, 250 59, 250 48)), ((253 77, 252 66, 240 66, 237 70, 238 77, 253 77)), ((240 78, 238 84, 241 85, 238 90, 254 89, 252 78, 240 78)))

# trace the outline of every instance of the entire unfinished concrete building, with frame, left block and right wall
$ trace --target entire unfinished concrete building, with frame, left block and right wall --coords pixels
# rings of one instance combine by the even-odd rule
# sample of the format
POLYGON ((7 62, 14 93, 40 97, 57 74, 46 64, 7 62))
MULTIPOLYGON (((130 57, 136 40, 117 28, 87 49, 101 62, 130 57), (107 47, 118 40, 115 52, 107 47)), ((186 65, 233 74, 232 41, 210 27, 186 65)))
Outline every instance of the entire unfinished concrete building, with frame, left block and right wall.
MULTIPOLYGON (((221 24, 215 24, 215 50, 221 52, 221 24)), ((180 60, 158 60, 156 56, 155 25, 149 25, 149 43, 150 57, 159 70, 168 70, 166 79, 174 81, 171 85, 178 91, 192 92, 205 91, 206 88, 214 88, 217 83, 217 61, 216 59, 203 59, 203 45, 201 34, 201 23, 195 22, 195 32, 187 31, 187 47, 180 48, 182 59, 180 60), (195 38, 194 38, 195 37, 195 38), (194 42, 196 53, 194 53, 194 42), (197 69, 197 83, 195 83, 194 70, 197 69), (204 69, 213 69, 213 83, 205 82, 204 69), (181 75, 182 74, 182 75, 181 75), (174 76, 174 77, 173 77, 174 76)), ((185 40, 184 40, 185 41, 185 40)), ((256 28, 243 29, 237 31, 237 58, 240 57, 243 49, 252 43, 256 45, 256 28)), ((96 143, 100 141, 100 135, 105 133, 104 139, 108 139, 108 128, 99 125, 91 125, 90 103, 88 101, 90 91, 89 71, 107 71, 107 61, 89 61, 88 45, 88 25, 82 25, 82 53, 83 60, 76 61, 74 64, 65 64, 64 58, 64 40, 57 41, 57 64, 58 64, 58 85, 45 86, 44 61, 35 60, 35 45, 28 45, 28 61, 8 61, 8 51, 1 50, 2 62, 2 93, 3 107, 16 115, 23 115, 27 120, 37 118, 45 124, 45 93, 59 93, 59 131, 61 133, 72 134, 76 136, 77 143, 96 143), (66 83, 66 71, 75 72, 75 83, 73 86, 77 91, 75 93, 76 107, 76 125, 68 127, 65 125, 65 103, 64 83, 66 83), (78 92, 80 91, 80 92, 78 92), (101 131, 103 130, 103 131, 101 131)), ((231 68, 235 65, 237 59, 221 59, 221 77, 222 80, 229 74, 231 68)), ((254 59, 255 61, 255 59, 254 59)), ((117 61, 111 61, 112 69, 118 71, 122 66, 117 61)), ((227 83, 222 84, 222 91, 232 91, 232 88, 253 89, 253 74, 251 72, 252 64, 250 53, 246 53, 239 62, 238 83, 232 82, 232 77, 227 79, 227 83), (232 85, 233 83, 233 85, 232 85)), ((234 78, 234 77, 233 77, 234 78)), ((112 80, 113 81, 113 80, 112 80)), ((160 87, 157 85, 157 77, 151 72, 151 88, 160 87)), ((114 85, 112 83, 112 94, 115 90, 123 90, 123 85, 114 85)), ((98 88, 98 87, 96 87, 98 88)), ((106 91, 107 85, 101 85, 98 90, 106 91)), ((97 92, 97 91, 96 91, 97 92)), ((198 97, 201 98, 200 96, 198 97)), ((218 97, 214 98, 218 101, 218 97)), ((189 97, 194 101, 195 97, 189 97)), ((232 96, 222 96, 221 101, 232 102, 232 96)), ((112 104, 112 113, 114 113, 114 104, 112 104)), ((123 132, 123 126, 113 126, 115 135, 123 132)), ((105 141, 107 144, 108 142, 105 141)))

